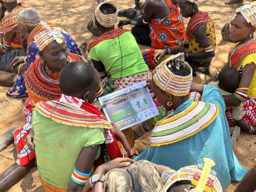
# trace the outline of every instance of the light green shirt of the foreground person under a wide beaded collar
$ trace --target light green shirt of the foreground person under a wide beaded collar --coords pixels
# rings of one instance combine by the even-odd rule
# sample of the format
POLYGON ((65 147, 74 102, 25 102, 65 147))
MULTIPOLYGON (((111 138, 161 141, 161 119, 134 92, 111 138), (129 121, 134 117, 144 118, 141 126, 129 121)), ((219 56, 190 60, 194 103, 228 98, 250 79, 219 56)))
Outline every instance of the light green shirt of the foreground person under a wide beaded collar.
MULTIPOLYGON (((32 127, 39 175, 48 183, 61 188, 68 187, 82 148, 104 143, 103 129, 61 124, 42 116, 36 110, 32 115, 32 127)), ((100 150, 96 159, 99 154, 100 150)))

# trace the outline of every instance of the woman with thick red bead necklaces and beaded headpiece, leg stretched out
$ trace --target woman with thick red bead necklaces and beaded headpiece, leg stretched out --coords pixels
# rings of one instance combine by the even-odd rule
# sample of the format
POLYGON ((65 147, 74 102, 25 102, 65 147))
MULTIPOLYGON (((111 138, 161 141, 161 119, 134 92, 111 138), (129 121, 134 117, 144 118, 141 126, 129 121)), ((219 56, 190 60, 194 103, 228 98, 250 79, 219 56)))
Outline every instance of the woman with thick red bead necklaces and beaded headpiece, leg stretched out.
MULTIPOLYGON (((26 100, 25 124, 18 129, 14 127, 8 131, 12 136, 9 139, 12 141, 14 135, 18 155, 16 163, 8 167, 0 176, 0 191, 21 179, 35 164, 35 153, 25 142, 31 129, 32 106, 42 100, 57 99, 61 94, 59 76, 62 68, 69 62, 84 60, 80 55, 69 53, 59 28, 46 27, 34 39, 39 49, 39 57, 28 68, 24 78, 29 95, 29 99, 26 100)), ((28 137, 29 141, 31 136, 32 133, 28 137)), ((0 136, 0 140, 5 140, 5 137, 0 136)), ((6 142, 10 143, 10 141, 6 142)))

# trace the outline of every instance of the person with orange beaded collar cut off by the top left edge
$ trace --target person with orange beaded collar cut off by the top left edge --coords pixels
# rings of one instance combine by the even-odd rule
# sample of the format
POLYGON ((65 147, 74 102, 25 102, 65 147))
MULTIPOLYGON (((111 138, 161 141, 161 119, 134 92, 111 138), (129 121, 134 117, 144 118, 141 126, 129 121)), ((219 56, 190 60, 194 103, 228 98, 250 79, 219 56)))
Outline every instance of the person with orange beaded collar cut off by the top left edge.
MULTIPOLYGON (((0 70, 8 71, 8 72, 15 72, 14 69, 10 68, 10 63, 16 56, 24 55, 22 47, 20 45, 19 39, 19 31, 17 29, 16 24, 16 17, 17 14, 22 11, 23 9, 29 8, 30 6, 25 3, 17 3, 17 0, 1 0, 1 12, 0 12, 0 19, 1 19, 1 32, 0 41, 0 70), (5 14, 5 11, 8 11, 5 14)), ((12 77, 15 76, 11 74, 12 77)), ((4 86, 12 86, 13 83, 10 82, 10 79, 6 78, 5 76, 1 75, 0 78, 1 84, 4 86)))

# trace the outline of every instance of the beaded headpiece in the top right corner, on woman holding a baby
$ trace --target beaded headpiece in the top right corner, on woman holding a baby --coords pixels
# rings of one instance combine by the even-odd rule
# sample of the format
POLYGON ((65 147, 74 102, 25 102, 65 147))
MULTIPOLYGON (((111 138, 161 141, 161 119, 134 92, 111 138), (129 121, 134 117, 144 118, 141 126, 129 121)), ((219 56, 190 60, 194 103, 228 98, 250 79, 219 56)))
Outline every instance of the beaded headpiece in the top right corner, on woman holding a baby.
POLYGON ((231 22, 236 18, 237 14, 241 13, 248 24, 256 27, 256 2, 247 3, 236 9, 236 13, 233 14, 231 22))

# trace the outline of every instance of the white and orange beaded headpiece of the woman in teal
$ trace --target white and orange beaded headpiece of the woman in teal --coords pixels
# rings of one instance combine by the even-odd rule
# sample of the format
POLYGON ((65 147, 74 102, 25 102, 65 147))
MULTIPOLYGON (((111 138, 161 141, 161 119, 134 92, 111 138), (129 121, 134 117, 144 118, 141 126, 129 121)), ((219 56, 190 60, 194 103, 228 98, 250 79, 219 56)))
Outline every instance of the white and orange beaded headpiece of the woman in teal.
POLYGON ((163 91, 175 96, 188 95, 193 80, 192 68, 185 62, 184 53, 178 53, 170 56, 157 66, 153 71, 153 79, 157 86, 163 91), (172 67, 177 70, 187 68, 190 73, 184 77, 175 75, 170 70, 172 67))

